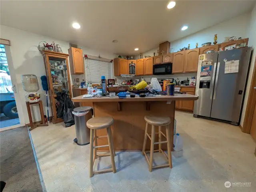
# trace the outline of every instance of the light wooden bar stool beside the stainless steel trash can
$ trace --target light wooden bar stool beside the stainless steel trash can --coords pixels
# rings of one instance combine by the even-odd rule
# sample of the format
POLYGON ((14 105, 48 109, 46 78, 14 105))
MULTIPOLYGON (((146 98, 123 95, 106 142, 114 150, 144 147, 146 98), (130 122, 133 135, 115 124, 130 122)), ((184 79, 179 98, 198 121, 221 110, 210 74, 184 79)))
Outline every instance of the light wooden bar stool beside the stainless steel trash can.
POLYGON ((113 146, 113 139, 110 126, 114 123, 112 117, 94 117, 89 119, 86 123, 87 127, 90 128, 90 177, 93 176, 94 173, 101 173, 101 172, 116 172, 116 165, 114 161, 115 151, 113 146), (98 129, 107 129, 107 135, 97 137, 96 131, 98 129), (108 144, 106 145, 97 145, 97 138, 108 137, 108 144), (108 154, 98 154, 97 155, 97 148, 109 146, 109 153, 108 154), (93 152, 92 152, 93 151, 93 152), (94 153, 94 154, 93 154, 94 153), (112 168, 103 169, 98 171, 93 171, 93 164, 95 158, 97 156, 110 156, 112 168))

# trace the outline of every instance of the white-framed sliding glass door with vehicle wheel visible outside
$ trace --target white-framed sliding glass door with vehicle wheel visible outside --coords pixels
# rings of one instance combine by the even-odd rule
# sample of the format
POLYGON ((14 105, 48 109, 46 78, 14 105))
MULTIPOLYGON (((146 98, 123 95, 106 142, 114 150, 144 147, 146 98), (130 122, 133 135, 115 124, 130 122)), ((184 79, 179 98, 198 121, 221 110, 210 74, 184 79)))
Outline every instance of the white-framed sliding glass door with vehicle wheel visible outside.
POLYGON ((25 125, 10 46, 0 44, 0 66, 0 131, 5 131, 25 125))

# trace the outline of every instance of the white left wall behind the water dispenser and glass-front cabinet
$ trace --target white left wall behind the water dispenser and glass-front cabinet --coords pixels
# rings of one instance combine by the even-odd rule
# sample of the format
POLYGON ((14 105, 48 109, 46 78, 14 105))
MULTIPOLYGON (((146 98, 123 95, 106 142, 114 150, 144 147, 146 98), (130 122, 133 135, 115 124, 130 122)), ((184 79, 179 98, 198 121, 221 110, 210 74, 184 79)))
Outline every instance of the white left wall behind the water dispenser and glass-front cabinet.
MULTIPOLYGON (((63 53, 68 53, 68 48, 70 48, 68 42, 56 40, 50 37, 40 36, 37 34, 33 34, 30 32, 18 30, 15 28, 10 28, 7 26, 0 25, 0 38, 10 40, 11 46, 11 54, 12 60, 14 65, 14 71, 16 74, 17 80, 17 91, 20 96, 21 105, 22 105, 22 112, 24 114, 24 122, 29 123, 28 119, 28 112, 26 109, 26 99, 25 93, 22 82, 21 82, 21 75, 24 74, 33 74, 38 77, 38 84, 40 89, 38 92, 41 95, 41 99, 44 105, 44 113, 47 113, 46 109, 46 96, 45 91, 42 89, 42 83, 40 77, 45 75, 44 69, 44 60, 41 53, 38 51, 37 46, 40 41, 46 41, 51 43, 54 41, 56 44, 59 44, 62 47, 63 53)), ((117 57, 117 55, 106 53, 102 51, 95 51, 92 49, 88 49, 82 46, 83 53, 88 55, 98 56, 100 54, 101 57, 113 59, 117 57)), ((71 75, 71 84, 73 84, 74 78, 76 75, 71 75)), ((78 76, 79 77, 79 76, 78 76)), ((40 121, 40 113, 37 106, 32 106, 32 112, 34 111, 33 120, 40 121)), ((50 116, 51 114, 51 110, 50 116)))

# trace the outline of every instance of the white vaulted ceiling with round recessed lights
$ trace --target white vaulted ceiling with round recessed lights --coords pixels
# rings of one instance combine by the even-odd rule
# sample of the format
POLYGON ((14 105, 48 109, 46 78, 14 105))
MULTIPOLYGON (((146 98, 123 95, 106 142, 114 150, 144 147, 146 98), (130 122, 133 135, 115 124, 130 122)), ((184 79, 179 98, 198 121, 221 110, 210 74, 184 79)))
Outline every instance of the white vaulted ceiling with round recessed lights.
POLYGON ((246 13, 254 3, 176 1, 168 10, 168 1, 1 0, 0 24, 91 49, 137 55, 246 13), (72 22, 78 22, 80 30, 72 28, 72 22), (180 30, 183 25, 186 31, 180 30))

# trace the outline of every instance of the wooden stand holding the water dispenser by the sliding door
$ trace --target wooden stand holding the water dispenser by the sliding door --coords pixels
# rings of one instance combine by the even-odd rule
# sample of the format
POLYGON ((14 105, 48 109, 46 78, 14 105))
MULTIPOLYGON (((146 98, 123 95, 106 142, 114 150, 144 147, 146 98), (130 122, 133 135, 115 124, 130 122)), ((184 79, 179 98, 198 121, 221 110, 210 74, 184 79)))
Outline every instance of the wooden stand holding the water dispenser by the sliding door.
POLYGON ((28 109, 28 118, 29 118, 29 123, 30 123, 29 131, 35 129, 36 127, 48 126, 48 124, 46 124, 45 121, 44 121, 44 109, 43 109, 42 101, 38 101, 38 102, 35 102, 35 103, 30 103, 30 102, 26 101, 26 105, 27 105, 27 109, 28 109), (39 110, 40 110, 42 123, 34 124, 33 119, 32 119, 32 115, 31 115, 30 105, 34 105, 34 104, 37 104, 37 103, 39 105, 39 110))

